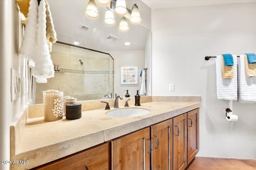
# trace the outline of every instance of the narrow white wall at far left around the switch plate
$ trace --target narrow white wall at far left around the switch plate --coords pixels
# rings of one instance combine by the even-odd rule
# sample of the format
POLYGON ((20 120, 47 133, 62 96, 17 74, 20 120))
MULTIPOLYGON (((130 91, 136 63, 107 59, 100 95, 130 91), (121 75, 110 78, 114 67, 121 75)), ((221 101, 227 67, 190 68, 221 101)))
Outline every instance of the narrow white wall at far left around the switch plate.
MULTIPOLYGON (((24 59, 18 56, 23 35, 19 11, 15 1, 0 0, 0 160, 10 160, 10 125, 26 108, 23 95, 25 77, 24 59), (20 73, 20 98, 11 102, 11 68, 20 73)), ((1 170, 8 170, 9 164, 0 164, 1 170)))

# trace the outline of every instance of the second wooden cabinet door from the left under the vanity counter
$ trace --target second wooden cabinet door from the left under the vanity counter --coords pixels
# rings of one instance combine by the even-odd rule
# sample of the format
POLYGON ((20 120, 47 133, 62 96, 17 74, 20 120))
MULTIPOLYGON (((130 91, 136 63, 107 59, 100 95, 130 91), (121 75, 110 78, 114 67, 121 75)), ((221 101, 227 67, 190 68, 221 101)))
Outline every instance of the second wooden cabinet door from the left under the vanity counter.
POLYGON ((152 170, 173 169, 172 119, 151 126, 152 170))

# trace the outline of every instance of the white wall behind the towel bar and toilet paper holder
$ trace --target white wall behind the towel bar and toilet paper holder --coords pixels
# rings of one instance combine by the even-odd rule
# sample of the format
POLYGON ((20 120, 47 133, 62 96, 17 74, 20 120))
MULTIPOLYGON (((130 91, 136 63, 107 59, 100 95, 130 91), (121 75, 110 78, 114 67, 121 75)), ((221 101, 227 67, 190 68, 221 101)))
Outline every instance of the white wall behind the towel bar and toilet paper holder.
POLYGON ((217 100, 215 60, 204 60, 256 53, 255 9, 241 3, 152 10, 152 95, 202 96, 198 156, 256 159, 256 104, 217 100), (239 117, 233 131, 228 107, 239 117))

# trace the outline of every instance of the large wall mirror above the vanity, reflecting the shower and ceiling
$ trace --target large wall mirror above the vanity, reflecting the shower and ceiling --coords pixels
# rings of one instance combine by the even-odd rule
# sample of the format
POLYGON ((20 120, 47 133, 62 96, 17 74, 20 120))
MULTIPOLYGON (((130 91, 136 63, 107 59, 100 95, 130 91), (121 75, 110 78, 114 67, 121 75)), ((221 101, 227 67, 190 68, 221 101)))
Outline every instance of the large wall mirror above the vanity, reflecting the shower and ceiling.
MULTIPOLYGON (((120 67, 138 66, 138 71, 140 72, 143 68, 151 66, 151 32, 141 25, 134 25, 129 23, 129 21, 129 31, 120 32, 118 31, 118 26, 121 17, 116 15, 114 15, 116 20, 114 26, 105 25, 103 21, 108 9, 106 6, 98 4, 99 18, 96 20, 90 19, 84 14, 88 2, 88 0, 49 0, 48 4, 52 13, 58 41, 70 45, 74 45, 74 42, 77 42, 79 47, 110 54, 104 54, 106 58, 103 59, 102 53, 102 63, 100 63, 102 67, 100 64, 98 64, 99 69, 97 66, 94 67, 94 71, 108 72, 108 76, 106 73, 100 74, 101 76, 98 76, 98 74, 95 76, 96 74, 55 72, 55 77, 48 79, 46 84, 33 82, 33 104, 42 103, 42 91, 48 89, 64 91, 64 96, 78 98, 78 101, 102 99, 105 94, 110 95, 111 93, 112 96, 116 93, 122 95, 126 89, 134 93, 136 90, 140 90, 140 83, 126 86, 120 84, 120 67), (130 45, 124 45, 126 42, 129 42, 130 45), (108 66, 108 68, 105 66, 108 66), (66 82, 59 80, 60 77, 66 82), (103 85, 100 85, 103 80, 104 82, 108 80, 109 84, 103 87, 103 85), (55 84, 55 87, 50 84, 55 84), (69 88, 66 84, 69 85, 69 88), (99 89, 104 90, 104 92, 98 93, 99 89)), ((126 1, 126 8, 131 10, 135 3, 140 4, 142 2, 136 0, 126 1)), ((139 5, 138 8, 140 9, 139 5)), ((142 11, 140 13, 143 21, 143 15, 145 14, 142 11)), ((67 70, 92 71, 90 69, 87 70, 90 66, 87 67, 86 64, 93 62, 93 57, 95 57, 94 62, 97 63, 98 55, 94 56, 92 51, 88 52, 86 49, 75 49, 73 46, 70 48, 65 46, 60 43, 53 44, 51 56, 54 64, 58 64, 60 68, 67 70), (56 52, 59 49, 61 49, 60 52, 56 52), (64 55, 64 51, 69 51, 70 56, 64 55), (82 52, 86 53, 86 55, 83 55, 82 52), (89 53, 91 58, 86 58, 89 57, 89 53)), ((148 81, 151 81, 150 72, 151 70, 148 71, 148 81)), ((147 86, 150 84, 151 82, 147 82, 147 86)), ((150 95, 151 92, 148 94, 150 95)), ((131 93, 131 96, 134 95, 131 93)))

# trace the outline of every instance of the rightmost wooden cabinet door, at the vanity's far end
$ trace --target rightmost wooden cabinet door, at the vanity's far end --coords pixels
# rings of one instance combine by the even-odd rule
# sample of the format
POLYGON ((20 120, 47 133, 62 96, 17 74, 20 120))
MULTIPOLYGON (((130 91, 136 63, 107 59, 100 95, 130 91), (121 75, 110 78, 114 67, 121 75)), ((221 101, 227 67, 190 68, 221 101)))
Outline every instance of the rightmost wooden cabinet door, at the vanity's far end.
POLYGON ((199 109, 188 112, 188 164, 199 151, 199 109))

